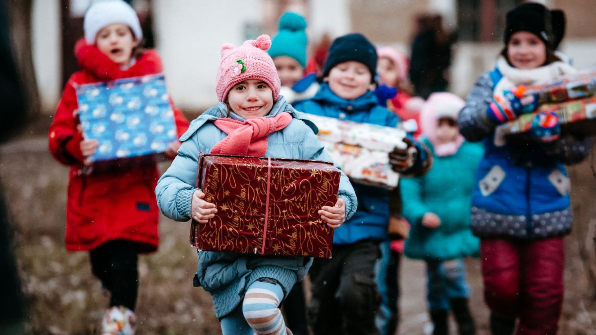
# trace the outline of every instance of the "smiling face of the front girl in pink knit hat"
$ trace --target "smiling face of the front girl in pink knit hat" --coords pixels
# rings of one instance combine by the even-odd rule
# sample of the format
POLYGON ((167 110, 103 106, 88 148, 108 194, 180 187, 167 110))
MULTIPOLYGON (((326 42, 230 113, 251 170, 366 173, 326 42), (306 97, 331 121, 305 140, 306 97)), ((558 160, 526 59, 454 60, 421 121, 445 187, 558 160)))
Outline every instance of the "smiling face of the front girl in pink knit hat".
POLYGON ((273 91, 263 80, 247 79, 232 86, 228 104, 244 119, 265 116, 273 108, 273 91))

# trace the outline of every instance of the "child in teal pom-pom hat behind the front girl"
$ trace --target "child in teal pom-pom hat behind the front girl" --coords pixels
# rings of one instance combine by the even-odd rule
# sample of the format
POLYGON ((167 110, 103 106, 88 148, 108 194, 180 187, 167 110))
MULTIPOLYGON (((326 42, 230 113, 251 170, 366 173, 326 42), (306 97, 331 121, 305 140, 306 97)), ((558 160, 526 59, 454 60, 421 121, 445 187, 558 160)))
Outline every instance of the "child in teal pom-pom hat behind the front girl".
POLYGON ((288 103, 312 98, 319 89, 316 75, 305 75, 306 20, 302 15, 284 13, 280 18, 280 32, 271 42, 269 55, 280 76, 280 94, 288 103))

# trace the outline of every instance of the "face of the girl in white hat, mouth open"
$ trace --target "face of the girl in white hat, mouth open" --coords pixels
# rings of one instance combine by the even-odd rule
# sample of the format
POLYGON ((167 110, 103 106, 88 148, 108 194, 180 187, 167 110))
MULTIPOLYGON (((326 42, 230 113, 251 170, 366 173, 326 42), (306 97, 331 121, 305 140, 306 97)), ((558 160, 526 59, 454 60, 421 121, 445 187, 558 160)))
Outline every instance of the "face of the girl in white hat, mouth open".
POLYGON ((113 23, 103 27, 97 33, 95 45, 114 63, 119 66, 128 66, 131 63, 132 49, 136 46, 136 39, 128 25, 113 23))

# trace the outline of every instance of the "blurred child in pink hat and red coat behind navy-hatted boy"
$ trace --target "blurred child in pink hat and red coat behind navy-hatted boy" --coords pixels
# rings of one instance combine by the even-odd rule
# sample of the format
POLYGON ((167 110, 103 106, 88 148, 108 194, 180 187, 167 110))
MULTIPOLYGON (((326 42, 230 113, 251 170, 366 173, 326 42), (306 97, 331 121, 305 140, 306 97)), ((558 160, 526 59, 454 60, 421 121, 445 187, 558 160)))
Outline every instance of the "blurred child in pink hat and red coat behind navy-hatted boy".
POLYGON ((419 112, 424 100, 408 94, 408 57, 403 52, 389 45, 378 47, 377 57, 379 83, 381 86, 386 85, 397 89, 395 97, 389 98, 389 100, 379 101, 379 103, 387 106, 393 113, 398 114, 399 118, 404 122, 404 129, 411 132, 415 138, 418 138, 421 133, 419 112))

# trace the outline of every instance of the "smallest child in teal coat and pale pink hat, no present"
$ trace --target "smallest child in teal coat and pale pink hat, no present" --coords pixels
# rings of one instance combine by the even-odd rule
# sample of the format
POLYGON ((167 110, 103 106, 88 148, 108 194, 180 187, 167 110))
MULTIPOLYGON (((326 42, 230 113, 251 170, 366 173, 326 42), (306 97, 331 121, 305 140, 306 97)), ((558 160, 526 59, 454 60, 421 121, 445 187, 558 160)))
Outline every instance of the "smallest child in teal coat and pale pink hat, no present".
POLYGON ((465 142, 457 128, 464 101, 448 92, 430 95, 421 110, 423 142, 433 152, 433 167, 417 178, 401 180, 403 217, 412 229, 405 255, 427 263, 428 302, 433 335, 449 333, 452 311, 460 335, 476 333, 468 309, 470 287, 462 258, 479 253, 470 230, 470 201, 482 147, 465 142))

